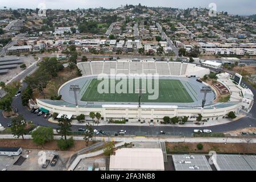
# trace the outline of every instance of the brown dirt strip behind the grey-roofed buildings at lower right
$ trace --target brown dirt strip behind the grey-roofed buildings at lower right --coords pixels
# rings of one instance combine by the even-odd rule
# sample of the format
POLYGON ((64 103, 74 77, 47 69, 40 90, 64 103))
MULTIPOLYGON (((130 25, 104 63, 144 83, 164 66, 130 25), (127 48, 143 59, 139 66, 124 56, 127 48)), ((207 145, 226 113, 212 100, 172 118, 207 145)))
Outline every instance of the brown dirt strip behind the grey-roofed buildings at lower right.
POLYGON ((255 154, 256 144, 246 143, 203 143, 203 150, 197 149, 198 143, 166 143, 166 151, 168 154, 179 153, 205 153, 216 151, 225 154, 255 154))

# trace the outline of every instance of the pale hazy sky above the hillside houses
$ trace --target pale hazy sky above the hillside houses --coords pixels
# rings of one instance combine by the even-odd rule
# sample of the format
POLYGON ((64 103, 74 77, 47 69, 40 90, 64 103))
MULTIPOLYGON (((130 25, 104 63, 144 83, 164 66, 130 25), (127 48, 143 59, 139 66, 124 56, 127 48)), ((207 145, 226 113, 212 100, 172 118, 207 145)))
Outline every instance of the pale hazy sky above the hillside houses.
POLYGON ((217 11, 228 11, 229 14, 256 14, 256 0, 0 0, 0 8, 30 8, 35 9, 40 3, 45 3, 47 9, 77 9, 89 7, 115 8, 121 5, 141 5, 179 7, 207 7, 216 3, 217 11))

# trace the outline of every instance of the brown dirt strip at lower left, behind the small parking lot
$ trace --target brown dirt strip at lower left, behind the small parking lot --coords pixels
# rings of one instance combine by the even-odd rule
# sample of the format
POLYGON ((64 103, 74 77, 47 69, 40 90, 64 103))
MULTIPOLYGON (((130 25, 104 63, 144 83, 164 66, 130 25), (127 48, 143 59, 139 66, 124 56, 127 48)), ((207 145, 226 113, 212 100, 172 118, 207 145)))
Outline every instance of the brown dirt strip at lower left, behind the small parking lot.
MULTIPOLYGON (((84 141, 74 141, 75 145, 72 148, 67 150, 68 152, 76 152, 86 147, 86 143, 84 141)), ((89 142, 89 146, 92 144, 92 141, 89 142)), ((56 150, 59 151, 57 147, 57 140, 53 140, 52 142, 46 143, 43 148, 42 146, 37 146, 33 140, 26 139, 0 139, 0 147, 22 147, 26 149, 34 149, 34 150, 56 150)))

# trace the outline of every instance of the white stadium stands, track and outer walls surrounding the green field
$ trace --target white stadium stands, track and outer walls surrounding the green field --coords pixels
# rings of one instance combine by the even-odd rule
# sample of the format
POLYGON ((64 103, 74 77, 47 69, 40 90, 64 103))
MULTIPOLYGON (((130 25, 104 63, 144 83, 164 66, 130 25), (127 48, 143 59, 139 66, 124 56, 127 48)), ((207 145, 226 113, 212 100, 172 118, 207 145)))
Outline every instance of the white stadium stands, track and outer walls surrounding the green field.
POLYGON ((209 86, 205 82, 197 79, 204 75, 209 75, 210 70, 197 66, 196 64, 181 63, 174 61, 155 60, 117 60, 117 61, 88 61, 78 63, 77 67, 82 72, 82 77, 66 82, 59 89, 62 96, 60 101, 37 99, 40 108, 48 110, 49 113, 69 114, 76 118, 77 115, 84 114, 86 121, 92 121, 89 117, 91 111, 101 113, 104 121, 109 119, 125 119, 127 122, 157 122, 163 121, 163 117, 189 117, 190 121, 195 121, 198 114, 208 121, 224 118, 230 111, 238 114, 240 111, 248 112, 253 105, 253 93, 250 89, 243 88, 234 82, 233 76, 228 73, 218 75, 218 85, 216 88, 210 86, 212 92, 207 94, 207 102, 201 106, 204 93, 200 93, 202 86, 209 86), (178 79, 183 82, 194 102, 192 103, 141 103, 136 102, 86 102, 81 101, 84 82, 97 75, 110 74, 114 69, 115 74, 158 74, 162 78, 178 79), (186 85, 191 82, 191 85, 186 85), (71 85, 79 85, 82 90, 75 93, 69 90, 71 85), (225 103, 216 102, 217 88, 222 92, 224 87, 231 94, 230 100, 225 103), (191 90, 191 92, 189 91, 191 90), (193 91, 194 90, 194 91, 193 91))

